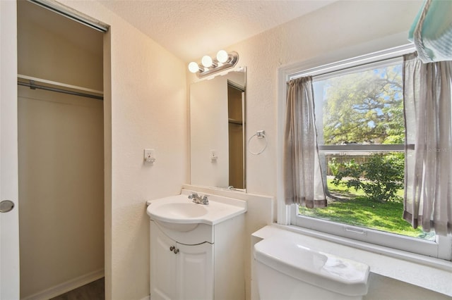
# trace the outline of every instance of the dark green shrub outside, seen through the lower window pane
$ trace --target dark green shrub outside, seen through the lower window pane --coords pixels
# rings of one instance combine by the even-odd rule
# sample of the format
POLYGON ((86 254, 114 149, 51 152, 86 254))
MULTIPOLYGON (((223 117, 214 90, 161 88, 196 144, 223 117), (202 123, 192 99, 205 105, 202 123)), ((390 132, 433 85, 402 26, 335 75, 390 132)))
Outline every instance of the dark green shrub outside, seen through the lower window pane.
POLYGON ((372 154, 357 164, 354 160, 338 167, 333 184, 362 189, 372 201, 402 201, 396 193, 403 189, 404 154, 372 154))

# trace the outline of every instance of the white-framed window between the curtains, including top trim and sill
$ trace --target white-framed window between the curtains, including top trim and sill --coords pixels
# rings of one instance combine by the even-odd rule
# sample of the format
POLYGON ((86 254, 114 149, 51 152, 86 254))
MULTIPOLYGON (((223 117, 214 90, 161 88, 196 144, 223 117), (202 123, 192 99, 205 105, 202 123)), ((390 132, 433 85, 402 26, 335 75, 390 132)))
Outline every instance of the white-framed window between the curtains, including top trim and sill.
POLYGON ((414 230, 402 218, 402 55, 409 52, 409 47, 390 49, 290 75, 313 76, 328 195, 326 208, 293 207, 291 223, 450 260, 450 238, 414 230))

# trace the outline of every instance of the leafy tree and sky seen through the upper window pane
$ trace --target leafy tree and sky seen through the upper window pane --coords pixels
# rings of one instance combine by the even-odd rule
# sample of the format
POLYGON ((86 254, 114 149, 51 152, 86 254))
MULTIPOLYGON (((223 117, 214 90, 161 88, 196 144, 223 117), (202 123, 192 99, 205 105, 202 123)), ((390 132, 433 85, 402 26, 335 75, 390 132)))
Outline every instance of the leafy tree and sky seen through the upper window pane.
POLYGON ((324 144, 402 144, 405 125, 401 65, 323 82, 324 144))

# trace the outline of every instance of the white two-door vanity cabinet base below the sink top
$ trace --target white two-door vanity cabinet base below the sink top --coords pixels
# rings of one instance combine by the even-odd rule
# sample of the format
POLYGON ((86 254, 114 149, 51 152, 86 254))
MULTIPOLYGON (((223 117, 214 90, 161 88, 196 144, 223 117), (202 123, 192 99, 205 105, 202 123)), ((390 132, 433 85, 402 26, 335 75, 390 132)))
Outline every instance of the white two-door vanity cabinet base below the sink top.
POLYGON ((244 213, 186 232, 150 220, 151 300, 244 300, 244 213))

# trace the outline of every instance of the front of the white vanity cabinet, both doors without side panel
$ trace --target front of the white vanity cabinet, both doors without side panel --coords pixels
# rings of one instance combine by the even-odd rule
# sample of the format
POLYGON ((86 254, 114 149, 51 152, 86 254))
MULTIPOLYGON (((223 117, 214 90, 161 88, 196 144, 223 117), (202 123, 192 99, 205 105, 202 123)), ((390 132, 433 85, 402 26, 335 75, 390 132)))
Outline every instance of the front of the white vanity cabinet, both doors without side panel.
POLYGON ((213 244, 179 244, 151 221, 150 246, 152 300, 213 299, 213 244))

